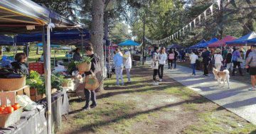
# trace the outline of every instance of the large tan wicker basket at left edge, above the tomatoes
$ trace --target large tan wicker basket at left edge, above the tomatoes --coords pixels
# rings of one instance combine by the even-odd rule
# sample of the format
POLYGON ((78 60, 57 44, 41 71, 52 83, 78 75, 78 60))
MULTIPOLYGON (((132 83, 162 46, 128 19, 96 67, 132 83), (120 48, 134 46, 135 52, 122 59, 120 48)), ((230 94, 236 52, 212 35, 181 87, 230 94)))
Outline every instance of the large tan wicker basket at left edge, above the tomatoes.
POLYGON ((26 85, 26 77, 16 79, 0 79, 0 91, 14 91, 26 85))

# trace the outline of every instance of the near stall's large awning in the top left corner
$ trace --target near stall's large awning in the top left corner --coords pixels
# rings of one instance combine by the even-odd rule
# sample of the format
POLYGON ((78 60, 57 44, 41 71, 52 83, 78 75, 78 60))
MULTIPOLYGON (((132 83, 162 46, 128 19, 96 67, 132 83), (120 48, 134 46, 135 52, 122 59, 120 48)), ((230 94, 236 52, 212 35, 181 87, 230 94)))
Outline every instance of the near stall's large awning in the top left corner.
POLYGON ((0 33, 28 33, 51 22, 56 27, 80 27, 58 13, 31 0, 0 1, 0 33))

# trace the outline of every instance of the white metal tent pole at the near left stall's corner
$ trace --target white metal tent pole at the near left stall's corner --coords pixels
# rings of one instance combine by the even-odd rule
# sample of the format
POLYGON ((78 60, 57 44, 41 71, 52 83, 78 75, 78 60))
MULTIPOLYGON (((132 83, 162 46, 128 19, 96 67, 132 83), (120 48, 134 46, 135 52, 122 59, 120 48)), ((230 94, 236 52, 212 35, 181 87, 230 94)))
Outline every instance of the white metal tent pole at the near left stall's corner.
POLYGON ((47 133, 51 133, 51 87, 50 87, 50 28, 52 27, 53 23, 51 21, 48 23, 47 26, 47 46, 46 46, 46 97, 47 97, 47 115, 48 115, 48 129, 47 133))

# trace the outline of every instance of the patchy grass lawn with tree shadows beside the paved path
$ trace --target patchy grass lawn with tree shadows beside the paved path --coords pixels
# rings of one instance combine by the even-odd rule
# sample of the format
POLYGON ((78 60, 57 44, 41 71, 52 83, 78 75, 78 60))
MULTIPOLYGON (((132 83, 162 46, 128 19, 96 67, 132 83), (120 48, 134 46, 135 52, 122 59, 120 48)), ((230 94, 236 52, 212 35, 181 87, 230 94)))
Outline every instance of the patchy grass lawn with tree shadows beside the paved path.
POLYGON ((85 102, 71 98, 68 121, 58 133, 256 133, 255 125, 169 77, 152 86, 151 74, 137 66, 132 84, 106 80, 89 111, 80 111, 85 102))

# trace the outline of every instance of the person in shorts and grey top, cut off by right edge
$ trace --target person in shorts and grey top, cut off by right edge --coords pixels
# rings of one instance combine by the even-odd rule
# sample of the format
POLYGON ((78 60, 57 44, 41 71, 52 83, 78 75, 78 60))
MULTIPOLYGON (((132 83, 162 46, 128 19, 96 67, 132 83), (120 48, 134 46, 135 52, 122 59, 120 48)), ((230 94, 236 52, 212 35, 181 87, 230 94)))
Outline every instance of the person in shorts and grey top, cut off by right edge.
POLYGON ((256 45, 251 46, 252 52, 248 55, 246 59, 246 68, 249 68, 252 88, 250 90, 256 91, 256 45))

